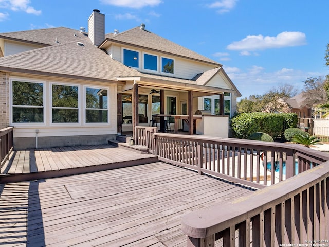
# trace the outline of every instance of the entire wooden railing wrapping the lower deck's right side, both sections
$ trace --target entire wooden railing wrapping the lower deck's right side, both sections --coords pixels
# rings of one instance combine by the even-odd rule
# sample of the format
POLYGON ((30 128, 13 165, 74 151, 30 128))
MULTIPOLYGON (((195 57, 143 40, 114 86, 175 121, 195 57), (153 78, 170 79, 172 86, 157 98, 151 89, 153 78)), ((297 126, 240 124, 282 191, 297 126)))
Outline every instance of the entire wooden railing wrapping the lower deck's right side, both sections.
POLYGON ((329 245, 329 154, 232 138, 163 133, 154 138, 159 160, 260 188, 185 215, 187 246, 329 245))

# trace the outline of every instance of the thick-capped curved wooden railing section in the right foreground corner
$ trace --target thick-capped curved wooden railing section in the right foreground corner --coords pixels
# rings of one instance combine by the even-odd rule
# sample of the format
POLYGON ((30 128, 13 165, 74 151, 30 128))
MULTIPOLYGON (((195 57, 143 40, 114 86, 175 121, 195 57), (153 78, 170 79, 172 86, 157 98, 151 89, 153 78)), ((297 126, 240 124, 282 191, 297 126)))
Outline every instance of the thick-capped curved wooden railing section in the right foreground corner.
POLYGON ((329 162, 182 218, 187 246, 328 246, 329 162))

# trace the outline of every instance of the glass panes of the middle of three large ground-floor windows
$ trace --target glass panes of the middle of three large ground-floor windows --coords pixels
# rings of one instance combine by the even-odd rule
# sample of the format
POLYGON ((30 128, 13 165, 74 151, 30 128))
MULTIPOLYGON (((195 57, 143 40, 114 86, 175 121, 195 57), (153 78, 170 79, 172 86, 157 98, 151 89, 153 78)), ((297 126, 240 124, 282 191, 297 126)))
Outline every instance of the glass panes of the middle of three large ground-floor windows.
POLYGON ((79 122, 78 86, 52 84, 52 122, 79 122))

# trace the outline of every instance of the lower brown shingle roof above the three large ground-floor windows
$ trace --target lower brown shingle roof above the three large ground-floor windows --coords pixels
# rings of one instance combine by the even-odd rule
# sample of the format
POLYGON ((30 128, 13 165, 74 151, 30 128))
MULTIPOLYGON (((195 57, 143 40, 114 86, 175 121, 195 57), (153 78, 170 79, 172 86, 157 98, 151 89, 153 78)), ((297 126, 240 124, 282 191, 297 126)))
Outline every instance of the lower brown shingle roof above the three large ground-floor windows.
POLYGON ((70 42, 6 56, 0 58, 0 69, 114 81, 120 76, 141 74, 109 57, 89 39, 85 39, 82 44, 70 42))

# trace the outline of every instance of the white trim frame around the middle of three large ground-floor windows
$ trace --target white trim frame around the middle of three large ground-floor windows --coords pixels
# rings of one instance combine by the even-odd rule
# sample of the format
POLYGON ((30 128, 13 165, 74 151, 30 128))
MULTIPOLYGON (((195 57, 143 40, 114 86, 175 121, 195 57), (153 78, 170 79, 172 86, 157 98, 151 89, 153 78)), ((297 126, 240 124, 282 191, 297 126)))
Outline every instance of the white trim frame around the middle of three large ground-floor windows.
POLYGON ((49 126, 81 126, 81 102, 80 102, 80 85, 74 83, 65 82, 49 82, 49 126), (78 87, 78 108, 75 107, 52 107, 52 85, 63 85, 63 86, 76 86, 78 87), (77 109, 78 110, 78 122, 52 122, 52 109, 77 109))

